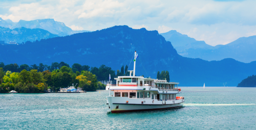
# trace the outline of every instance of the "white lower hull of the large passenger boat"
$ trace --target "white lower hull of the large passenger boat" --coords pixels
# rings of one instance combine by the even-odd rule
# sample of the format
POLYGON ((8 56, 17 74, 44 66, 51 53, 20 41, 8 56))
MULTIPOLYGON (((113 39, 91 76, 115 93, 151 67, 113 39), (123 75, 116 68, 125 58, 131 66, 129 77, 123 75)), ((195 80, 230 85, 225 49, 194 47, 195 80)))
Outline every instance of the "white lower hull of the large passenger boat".
POLYGON ((185 100, 158 101, 154 99, 130 99, 128 97, 107 97, 111 113, 153 111, 182 107, 185 100), (128 103, 126 103, 128 101, 128 103), (145 102, 144 102, 145 101, 145 102), (141 104, 143 102, 143 104, 141 104))

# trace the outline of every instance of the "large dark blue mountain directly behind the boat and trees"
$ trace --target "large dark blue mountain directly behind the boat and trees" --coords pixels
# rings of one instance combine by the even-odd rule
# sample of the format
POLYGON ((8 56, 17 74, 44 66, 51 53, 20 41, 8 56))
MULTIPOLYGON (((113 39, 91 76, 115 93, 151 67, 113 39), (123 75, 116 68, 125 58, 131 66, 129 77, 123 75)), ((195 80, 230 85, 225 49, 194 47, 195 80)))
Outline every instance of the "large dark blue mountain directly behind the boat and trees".
POLYGON ((206 61, 179 55, 158 31, 114 26, 93 32, 0 46, 0 62, 5 64, 68 64, 100 66, 113 70, 128 65, 133 70, 133 54, 138 52, 136 75, 156 78, 158 71, 169 71, 171 82, 179 86, 237 86, 256 72, 256 61, 242 63, 231 58, 206 61), (12 58, 10 58, 12 57, 12 58))

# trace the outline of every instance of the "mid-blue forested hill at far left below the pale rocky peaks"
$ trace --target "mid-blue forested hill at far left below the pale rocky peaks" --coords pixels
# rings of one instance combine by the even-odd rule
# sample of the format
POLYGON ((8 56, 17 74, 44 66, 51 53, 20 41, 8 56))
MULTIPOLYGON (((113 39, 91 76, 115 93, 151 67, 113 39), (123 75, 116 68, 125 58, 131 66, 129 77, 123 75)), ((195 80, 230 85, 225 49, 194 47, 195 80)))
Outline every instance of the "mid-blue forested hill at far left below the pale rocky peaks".
POLYGON ((16 42, 22 43, 26 41, 34 42, 36 40, 48 39, 58 37, 56 34, 52 34, 44 29, 36 28, 29 29, 25 27, 20 28, 5 28, 0 27, 0 41, 5 41, 5 43, 16 42))

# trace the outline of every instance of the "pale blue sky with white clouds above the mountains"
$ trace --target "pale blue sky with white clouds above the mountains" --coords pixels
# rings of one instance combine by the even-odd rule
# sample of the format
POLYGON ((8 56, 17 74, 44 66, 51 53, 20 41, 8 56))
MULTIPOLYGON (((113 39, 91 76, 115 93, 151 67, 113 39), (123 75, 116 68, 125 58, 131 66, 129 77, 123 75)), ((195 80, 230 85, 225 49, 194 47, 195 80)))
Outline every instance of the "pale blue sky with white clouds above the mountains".
POLYGON ((0 17, 53 18, 73 30, 115 25, 177 30, 216 46, 256 35, 255 5, 253 0, 0 0, 0 17))

